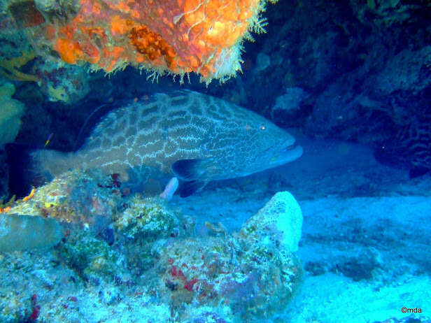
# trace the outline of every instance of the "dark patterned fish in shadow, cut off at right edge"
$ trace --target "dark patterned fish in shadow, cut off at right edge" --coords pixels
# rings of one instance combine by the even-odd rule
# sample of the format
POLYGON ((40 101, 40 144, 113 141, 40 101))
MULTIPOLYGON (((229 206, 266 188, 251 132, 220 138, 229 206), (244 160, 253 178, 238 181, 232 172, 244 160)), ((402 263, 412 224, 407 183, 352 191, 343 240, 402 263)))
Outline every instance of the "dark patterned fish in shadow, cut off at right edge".
POLYGON ((413 117, 393 139, 374 151, 374 157, 381 164, 409 169, 410 178, 431 171, 431 111, 413 117))

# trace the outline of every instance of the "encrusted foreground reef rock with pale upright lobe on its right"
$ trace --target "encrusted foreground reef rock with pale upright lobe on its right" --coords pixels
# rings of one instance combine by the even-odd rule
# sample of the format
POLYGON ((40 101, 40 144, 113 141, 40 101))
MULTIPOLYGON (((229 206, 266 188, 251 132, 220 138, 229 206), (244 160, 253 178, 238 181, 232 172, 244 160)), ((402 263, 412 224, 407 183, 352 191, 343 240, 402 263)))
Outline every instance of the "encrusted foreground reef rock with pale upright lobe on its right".
POLYGON ((227 322, 269 317, 285 309, 302 281, 292 253, 301 226, 297 202, 280 192, 239 233, 171 241, 147 277, 183 322, 206 306, 227 322))

